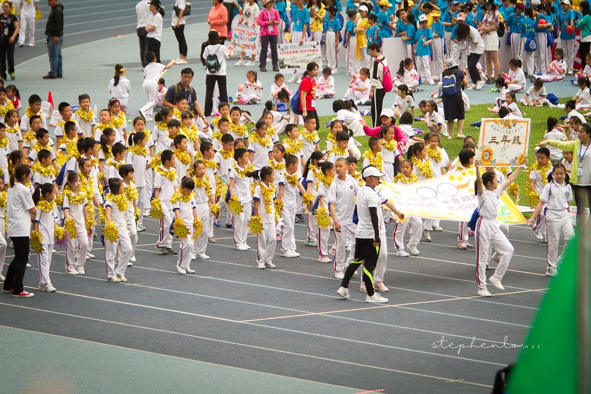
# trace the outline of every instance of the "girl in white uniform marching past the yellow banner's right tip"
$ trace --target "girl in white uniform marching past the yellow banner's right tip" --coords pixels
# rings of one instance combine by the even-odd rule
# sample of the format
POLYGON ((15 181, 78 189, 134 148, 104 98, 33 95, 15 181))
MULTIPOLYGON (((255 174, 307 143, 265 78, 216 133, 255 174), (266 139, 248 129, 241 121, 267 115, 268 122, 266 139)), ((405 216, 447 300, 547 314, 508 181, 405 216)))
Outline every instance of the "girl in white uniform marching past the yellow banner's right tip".
POLYGON ((534 218, 544 209, 548 240, 546 249, 547 276, 556 276, 557 274, 560 235, 563 236, 564 242, 568 242, 574 237, 573 224, 569 214, 569 205, 572 200, 573 191, 569 185, 569 174, 566 172, 566 167, 563 164, 554 164, 552 172, 548 175, 548 183, 540 194, 540 202, 527 221, 530 226, 533 226, 534 218))

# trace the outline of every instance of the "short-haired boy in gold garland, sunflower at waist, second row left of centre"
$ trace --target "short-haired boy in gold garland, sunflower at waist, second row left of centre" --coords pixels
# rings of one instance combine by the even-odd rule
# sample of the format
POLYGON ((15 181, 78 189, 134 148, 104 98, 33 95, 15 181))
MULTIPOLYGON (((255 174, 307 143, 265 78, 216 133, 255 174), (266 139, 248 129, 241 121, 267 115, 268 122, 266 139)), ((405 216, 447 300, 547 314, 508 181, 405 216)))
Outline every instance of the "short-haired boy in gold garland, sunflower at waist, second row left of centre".
POLYGON ((251 217, 252 194, 251 181, 246 175, 254 171, 254 167, 248 162, 248 151, 244 148, 234 149, 234 159, 236 162, 230 168, 228 175, 228 195, 230 198, 238 197, 242 204, 242 212, 232 216, 232 236, 234 249, 248 250, 250 246, 246 243, 246 235, 248 235, 248 220, 251 217))

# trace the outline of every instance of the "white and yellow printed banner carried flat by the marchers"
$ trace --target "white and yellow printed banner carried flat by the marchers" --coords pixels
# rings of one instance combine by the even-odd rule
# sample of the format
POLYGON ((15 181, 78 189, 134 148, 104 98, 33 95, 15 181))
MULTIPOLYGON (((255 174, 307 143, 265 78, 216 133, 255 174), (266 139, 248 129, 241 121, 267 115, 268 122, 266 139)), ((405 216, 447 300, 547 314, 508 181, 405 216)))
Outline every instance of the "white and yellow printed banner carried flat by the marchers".
MULTIPOLYGON (((415 183, 382 182, 378 188, 404 213, 404 217, 469 222, 478 208, 478 198, 474 194, 475 180, 476 171, 470 168, 415 183)), ((506 193, 500 198, 497 220, 502 224, 525 223, 525 218, 506 193)))

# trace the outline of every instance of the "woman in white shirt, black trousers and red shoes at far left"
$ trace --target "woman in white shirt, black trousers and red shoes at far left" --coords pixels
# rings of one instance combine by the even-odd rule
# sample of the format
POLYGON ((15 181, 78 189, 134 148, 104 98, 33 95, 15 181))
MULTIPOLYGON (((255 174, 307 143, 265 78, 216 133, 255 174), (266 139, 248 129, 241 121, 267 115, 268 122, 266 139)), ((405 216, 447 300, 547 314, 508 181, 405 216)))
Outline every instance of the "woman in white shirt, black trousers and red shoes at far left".
POLYGON ((14 259, 8 266, 2 292, 12 293, 12 297, 33 297, 33 293, 25 291, 22 279, 29 261, 29 242, 31 236, 31 220, 37 209, 31 197, 31 189, 27 184, 31 180, 31 170, 26 164, 15 168, 10 177, 7 195, 7 234, 14 245, 14 259), (27 217, 30 219, 27 220, 27 217))

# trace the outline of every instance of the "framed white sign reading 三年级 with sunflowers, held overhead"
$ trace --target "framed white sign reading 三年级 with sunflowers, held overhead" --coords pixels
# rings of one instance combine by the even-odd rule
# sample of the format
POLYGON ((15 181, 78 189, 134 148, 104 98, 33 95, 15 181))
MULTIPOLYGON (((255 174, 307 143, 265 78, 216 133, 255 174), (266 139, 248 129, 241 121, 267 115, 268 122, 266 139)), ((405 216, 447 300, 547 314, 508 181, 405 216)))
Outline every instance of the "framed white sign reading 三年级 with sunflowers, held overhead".
POLYGON ((480 123, 478 158, 485 167, 521 165, 527 158, 531 119, 485 118, 480 123))

